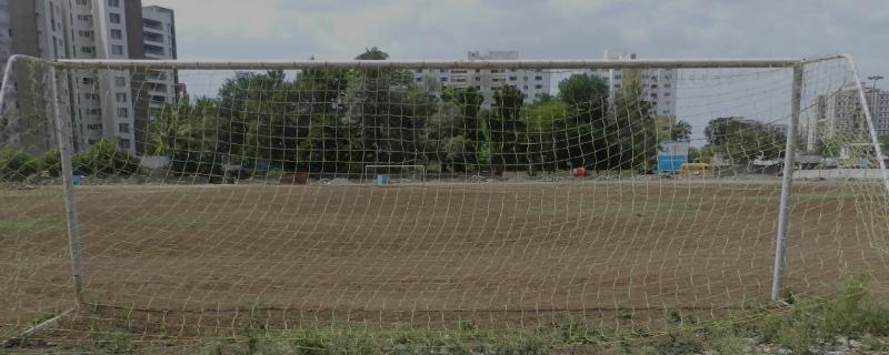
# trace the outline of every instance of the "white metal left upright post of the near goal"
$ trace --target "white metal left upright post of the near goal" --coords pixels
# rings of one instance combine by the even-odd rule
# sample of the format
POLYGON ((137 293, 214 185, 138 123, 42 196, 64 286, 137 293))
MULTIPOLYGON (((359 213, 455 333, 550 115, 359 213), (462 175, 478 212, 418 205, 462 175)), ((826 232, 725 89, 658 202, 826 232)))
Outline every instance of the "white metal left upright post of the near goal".
POLYGON ((64 191, 64 211, 68 214, 68 242, 71 251, 71 271, 74 278, 74 298, 77 304, 83 304, 83 265, 81 262, 80 233, 78 231, 77 205, 74 201, 73 166, 71 150, 73 134, 68 122, 62 121, 59 108, 59 79, 56 65, 50 64, 52 77, 52 109, 58 133, 59 153, 62 164, 62 190, 64 191))

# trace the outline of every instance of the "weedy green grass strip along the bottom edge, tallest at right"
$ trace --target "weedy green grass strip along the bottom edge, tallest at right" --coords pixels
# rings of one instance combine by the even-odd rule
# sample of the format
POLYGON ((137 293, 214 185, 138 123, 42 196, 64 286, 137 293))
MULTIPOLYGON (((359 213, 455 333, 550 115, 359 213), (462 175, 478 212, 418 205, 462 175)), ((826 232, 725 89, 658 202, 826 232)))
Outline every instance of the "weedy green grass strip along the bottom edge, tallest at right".
MULTIPOLYGON (((480 327, 460 322, 441 328, 303 323, 290 332, 244 326, 234 337, 213 339, 204 354, 819 354, 857 344, 889 351, 889 305, 870 297, 869 281, 849 277, 832 295, 793 304, 743 305, 740 314, 703 323, 681 310, 667 310, 668 329, 608 333, 582 320, 530 328, 480 327), (849 341, 856 339, 856 341, 849 341)), ((256 324, 256 323, 253 323, 256 324)))

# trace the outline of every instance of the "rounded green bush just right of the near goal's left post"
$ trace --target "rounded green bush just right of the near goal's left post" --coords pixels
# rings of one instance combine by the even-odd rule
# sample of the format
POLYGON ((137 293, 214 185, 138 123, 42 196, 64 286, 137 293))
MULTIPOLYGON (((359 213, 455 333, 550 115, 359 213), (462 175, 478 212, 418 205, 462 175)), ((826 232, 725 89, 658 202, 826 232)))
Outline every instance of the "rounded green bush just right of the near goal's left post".
POLYGON ((139 171, 139 160, 108 141, 100 141, 89 151, 74 154, 74 171, 99 178, 131 175, 139 171))

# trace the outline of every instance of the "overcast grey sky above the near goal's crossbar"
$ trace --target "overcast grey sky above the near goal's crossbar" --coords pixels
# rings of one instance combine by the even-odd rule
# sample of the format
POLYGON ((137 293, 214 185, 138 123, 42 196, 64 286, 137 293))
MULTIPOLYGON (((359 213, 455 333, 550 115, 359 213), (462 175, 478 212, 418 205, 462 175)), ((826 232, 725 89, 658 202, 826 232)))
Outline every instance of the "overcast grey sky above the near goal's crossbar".
MULTIPOLYGON (((469 50, 503 49, 523 59, 600 59, 608 48, 640 58, 845 52, 862 77, 889 78, 889 0, 142 2, 176 10, 179 59, 338 60, 372 45, 392 59, 465 59, 469 50)), ((692 122, 696 136, 705 119, 692 122)))

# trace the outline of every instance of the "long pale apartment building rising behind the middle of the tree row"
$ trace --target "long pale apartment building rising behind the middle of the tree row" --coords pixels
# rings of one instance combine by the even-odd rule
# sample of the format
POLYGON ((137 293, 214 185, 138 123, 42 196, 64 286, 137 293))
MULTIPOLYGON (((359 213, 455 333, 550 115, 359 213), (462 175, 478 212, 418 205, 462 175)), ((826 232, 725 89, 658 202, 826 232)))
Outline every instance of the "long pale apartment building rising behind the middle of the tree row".
MULTIPOLYGON (((472 60, 516 60, 518 51, 471 51, 467 59, 472 60)), ((495 90, 505 85, 512 85, 525 93, 525 102, 530 103, 551 90, 552 74, 548 70, 506 70, 506 69, 452 69, 452 70, 423 70, 413 73, 417 82, 434 80, 446 88, 475 88, 482 94, 482 106, 490 108, 495 104, 495 90)))

